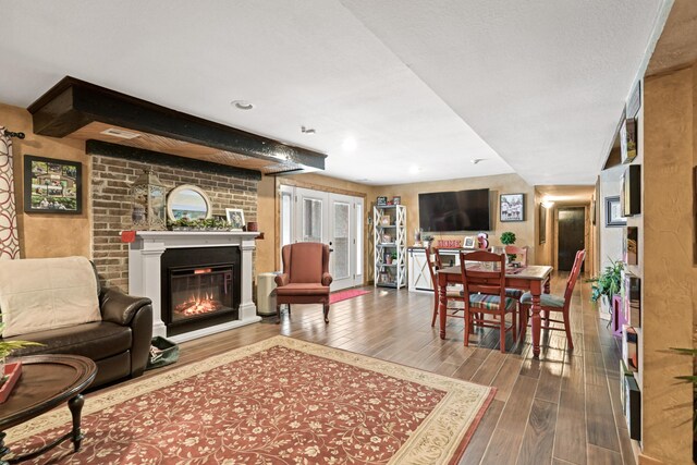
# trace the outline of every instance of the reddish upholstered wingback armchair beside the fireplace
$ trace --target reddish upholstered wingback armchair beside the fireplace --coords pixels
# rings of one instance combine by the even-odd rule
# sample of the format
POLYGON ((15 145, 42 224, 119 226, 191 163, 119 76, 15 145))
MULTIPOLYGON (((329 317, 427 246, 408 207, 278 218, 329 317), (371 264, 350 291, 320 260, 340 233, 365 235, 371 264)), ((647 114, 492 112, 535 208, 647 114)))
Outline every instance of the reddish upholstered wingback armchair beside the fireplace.
POLYGON ((329 246, 318 242, 284 245, 281 250, 283 274, 276 277, 277 311, 281 304, 322 304, 325 322, 329 322, 329 246))

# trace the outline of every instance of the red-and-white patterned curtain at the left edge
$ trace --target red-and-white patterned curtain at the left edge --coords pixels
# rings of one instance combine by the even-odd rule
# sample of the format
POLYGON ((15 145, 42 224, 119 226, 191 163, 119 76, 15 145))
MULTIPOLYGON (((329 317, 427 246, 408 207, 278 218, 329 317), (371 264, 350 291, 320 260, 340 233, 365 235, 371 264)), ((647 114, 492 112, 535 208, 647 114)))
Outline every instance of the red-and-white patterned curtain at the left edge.
POLYGON ((0 260, 20 258, 12 173, 12 140, 0 126, 0 260))

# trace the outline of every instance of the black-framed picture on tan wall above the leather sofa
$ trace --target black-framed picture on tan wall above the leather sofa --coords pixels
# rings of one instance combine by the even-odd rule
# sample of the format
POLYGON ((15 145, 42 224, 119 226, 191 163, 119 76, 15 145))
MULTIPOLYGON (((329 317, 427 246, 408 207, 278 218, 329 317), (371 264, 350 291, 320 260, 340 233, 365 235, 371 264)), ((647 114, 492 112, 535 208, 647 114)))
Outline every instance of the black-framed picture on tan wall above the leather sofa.
POLYGON ((24 157, 24 211, 83 212, 83 164, 54 158, 24 157))

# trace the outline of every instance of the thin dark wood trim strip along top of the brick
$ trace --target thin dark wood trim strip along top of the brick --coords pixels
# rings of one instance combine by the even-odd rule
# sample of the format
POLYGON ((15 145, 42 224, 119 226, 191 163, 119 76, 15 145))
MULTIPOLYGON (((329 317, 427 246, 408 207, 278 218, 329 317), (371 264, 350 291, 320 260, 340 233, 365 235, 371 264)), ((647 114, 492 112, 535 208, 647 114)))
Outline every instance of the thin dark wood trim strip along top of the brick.
POLYGON ((195 160, 193 158, 145 150, 143 148, 127 147, 101 140, 87 140, 85 144, 85 151, 87 155, 102 155, 105 157, 138 161, 147 164, 160 164, 170 168, 203 171, 205 173, 218 174, 221 176, 234 176, 253 181, 261 180, 261 173, 254 170, 245 170, 243 168, 230 167, 228 164, 195 160))

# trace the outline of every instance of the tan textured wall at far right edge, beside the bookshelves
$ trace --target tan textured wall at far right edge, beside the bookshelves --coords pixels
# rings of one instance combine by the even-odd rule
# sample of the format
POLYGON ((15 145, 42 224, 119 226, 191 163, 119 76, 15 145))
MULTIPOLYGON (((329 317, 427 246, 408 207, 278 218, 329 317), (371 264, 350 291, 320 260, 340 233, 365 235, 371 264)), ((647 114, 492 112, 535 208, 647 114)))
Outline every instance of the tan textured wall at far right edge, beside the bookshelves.
POLYGON ((693 344, 695 73, 697 65, 644 86, 643 453, 665 464, 692 463, 693 389, 675 377, 692 374, 693 362, 670 347, 693 344))

